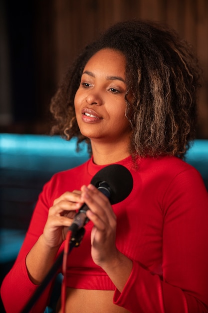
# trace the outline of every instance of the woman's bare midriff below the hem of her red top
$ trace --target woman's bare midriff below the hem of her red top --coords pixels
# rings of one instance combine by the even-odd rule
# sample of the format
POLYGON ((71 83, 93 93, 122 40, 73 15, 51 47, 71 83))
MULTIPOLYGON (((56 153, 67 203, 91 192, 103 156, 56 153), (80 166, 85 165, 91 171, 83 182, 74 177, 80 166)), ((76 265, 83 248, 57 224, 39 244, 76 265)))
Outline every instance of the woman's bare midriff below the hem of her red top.
MULTIPOLYGON (((127 309, 113 304, 114 290, 66 288, 66 313, 126 313, 127 309)), ((57 313, 61 313, 60 302, 57 313)))

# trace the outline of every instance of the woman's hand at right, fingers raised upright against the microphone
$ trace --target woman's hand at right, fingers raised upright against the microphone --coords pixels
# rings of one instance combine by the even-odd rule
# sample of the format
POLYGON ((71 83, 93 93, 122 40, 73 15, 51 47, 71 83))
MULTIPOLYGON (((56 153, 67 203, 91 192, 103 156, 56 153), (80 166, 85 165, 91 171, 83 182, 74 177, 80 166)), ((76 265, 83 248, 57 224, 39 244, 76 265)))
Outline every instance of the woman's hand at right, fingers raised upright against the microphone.
POLYGON ((81 187, 81 199, 90 208, 87 217, 93 222, 91 232, 91 255, 93 261, 105 267, 117 258, 116 215, 108 198, 95 186, 89 184, 81 187))

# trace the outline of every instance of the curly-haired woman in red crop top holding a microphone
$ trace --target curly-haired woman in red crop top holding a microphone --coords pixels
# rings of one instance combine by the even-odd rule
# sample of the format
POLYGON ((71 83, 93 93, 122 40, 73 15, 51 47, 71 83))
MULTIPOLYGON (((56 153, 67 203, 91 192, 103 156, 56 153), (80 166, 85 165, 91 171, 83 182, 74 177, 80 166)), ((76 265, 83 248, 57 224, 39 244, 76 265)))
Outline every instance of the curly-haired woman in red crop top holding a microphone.
MULTIPOLYGON (((83 203, 90 221, 67 260, 66 312, 208 312, 208 193, 182 160, 198 87, 189 45, 151 22, 117 23, 77 57, 51 102, 53 132, 86 140, 92 157, 45 184, 1 286, 8 313, 43 280, 83 203), (114 205, 90 184, 112 163, 134 182, 114 205)), ((32 312, 44 311, 50 289, 32 312)))

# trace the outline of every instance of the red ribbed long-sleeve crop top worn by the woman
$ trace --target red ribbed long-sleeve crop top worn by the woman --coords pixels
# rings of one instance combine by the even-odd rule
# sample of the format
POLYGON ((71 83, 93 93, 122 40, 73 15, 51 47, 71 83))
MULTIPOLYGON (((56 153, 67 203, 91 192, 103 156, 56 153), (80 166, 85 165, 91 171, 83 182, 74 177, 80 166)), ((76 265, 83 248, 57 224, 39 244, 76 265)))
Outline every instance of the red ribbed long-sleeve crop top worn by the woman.
MULTIPOLYGON (((91 258, 90 221, 81 245, 69 254, 67 286, 115 290, 114 303, 134 313, 208 312, 208 192, 200 173, 170 156, 141 158, 137 167, 131 156, 117 163, 130 170, 134 181, 130 195, 113 205, 116 245, 133 260, 132 272, 119 292, 91 258)), ((20 312, 37 288, 25 257, 43 232, 53 200, 88 184, 103 167, 91 158, 55 174, 43 187, 21 250, 1 285, 7 313, 20 312)), ((50 287, 31 312, 44 311, 50 287)))

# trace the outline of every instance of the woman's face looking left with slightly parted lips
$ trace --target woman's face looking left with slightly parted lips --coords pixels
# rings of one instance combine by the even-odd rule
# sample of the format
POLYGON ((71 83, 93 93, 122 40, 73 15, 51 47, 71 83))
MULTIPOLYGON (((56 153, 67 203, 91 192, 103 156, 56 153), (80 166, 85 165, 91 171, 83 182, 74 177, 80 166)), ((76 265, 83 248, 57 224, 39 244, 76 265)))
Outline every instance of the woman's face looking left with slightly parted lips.
POLYGON ((125 116, 125 56, 112 49, 96 52, 86 63, 74 105, 81 133, 92 140, 129 142, 125 116))

